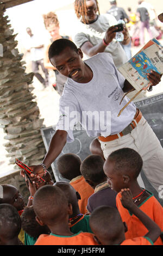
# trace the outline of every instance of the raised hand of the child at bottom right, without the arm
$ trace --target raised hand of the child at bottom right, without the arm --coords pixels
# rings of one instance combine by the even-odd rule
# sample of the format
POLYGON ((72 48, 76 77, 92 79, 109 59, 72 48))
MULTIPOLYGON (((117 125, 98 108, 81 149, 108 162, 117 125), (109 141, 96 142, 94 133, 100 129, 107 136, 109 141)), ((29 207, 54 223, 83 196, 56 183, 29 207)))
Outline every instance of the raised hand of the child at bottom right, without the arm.
POLYGON ((133 195, 131 194, 131 191, 129 190, 129 188, 124 188, 123 190, 121 190, 121 203, 123 205, 124 208, 126 209, 131 209, 132 206, 134 205, 133 202, 133 195))

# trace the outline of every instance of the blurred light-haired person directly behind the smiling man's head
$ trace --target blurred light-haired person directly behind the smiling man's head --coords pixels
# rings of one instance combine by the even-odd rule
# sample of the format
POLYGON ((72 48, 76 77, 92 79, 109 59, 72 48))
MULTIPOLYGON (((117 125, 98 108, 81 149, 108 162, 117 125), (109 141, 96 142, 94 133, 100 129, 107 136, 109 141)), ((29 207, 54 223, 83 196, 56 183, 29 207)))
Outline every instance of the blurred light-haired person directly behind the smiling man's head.
POLYGON ((50 63, 48 58, 48 50, 50 45, 53 41, 60 39, 60 38, 67 38, 70 39, 70 36, 62 36, 60 35, 60 27, 59 27, 59 20, 57 15, 54 12, 49 12, 48 14, 43 14, 43 22, 45 28, 47 29, 51 39, 45 45, 45 53, 43 58, 43 65, 46 69, 54 70, 55 72, 55 83, 53 84, 53 88, 57 90, 58 94, 61 96, 62 91, 64 89, 64 84, 67 80, 65 76, 62 76, 57 69, 50 63))

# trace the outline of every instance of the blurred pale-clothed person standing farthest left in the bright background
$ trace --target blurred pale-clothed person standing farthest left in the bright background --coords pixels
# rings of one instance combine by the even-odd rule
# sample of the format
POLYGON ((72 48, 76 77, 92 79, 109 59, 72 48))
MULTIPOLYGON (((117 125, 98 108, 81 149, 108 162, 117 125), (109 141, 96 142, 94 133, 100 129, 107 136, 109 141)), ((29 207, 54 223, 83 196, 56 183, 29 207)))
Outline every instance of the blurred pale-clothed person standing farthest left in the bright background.
POLYGON ((48 70, 43 65, 43 52, 44 52, 44 42, 40 40, 40 36, 34 35, 30 28, 26 28, 27 34, 29 35, 28 52, 30 52, 30 59, 32 60, 32 72, 34 72, 35 77, 43 84, 43 87, 48 86, 48 70), (39 66, 45 75, 45 78, 39 72, 39 66))

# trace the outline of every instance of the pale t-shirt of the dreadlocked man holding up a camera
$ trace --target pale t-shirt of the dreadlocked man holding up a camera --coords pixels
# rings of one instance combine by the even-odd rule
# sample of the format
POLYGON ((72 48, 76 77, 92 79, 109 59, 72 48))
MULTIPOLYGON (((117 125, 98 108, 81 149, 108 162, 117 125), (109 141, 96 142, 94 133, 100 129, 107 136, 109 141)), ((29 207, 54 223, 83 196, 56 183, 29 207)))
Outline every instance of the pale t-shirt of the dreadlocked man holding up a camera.
MULTIPOLYGON (((80 22, 78 33, 74 36, 74 42, 79 48, 86 41, 90 41, 93 46, 101 44, 107 29, 116 24, 117 20, 110 14, 101 14, 95 22, 90 24, 80 22)), ((120 42, 115 39, 110 42, 104 52, 111 53, 117 68, 128 60, 120 42)))

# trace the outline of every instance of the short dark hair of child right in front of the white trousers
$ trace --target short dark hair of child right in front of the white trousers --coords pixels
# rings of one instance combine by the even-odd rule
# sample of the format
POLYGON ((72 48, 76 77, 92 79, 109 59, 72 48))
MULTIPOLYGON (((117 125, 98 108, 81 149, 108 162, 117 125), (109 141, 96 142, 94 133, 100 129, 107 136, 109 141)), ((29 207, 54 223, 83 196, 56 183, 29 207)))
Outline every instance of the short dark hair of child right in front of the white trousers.
POLYGON ((115 162, 115 171, 132 173, 134 179, 139 176, 143 165, 140 154, 131 148, 115 150, 108 159, 115 162))

